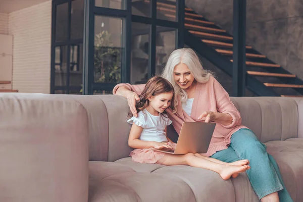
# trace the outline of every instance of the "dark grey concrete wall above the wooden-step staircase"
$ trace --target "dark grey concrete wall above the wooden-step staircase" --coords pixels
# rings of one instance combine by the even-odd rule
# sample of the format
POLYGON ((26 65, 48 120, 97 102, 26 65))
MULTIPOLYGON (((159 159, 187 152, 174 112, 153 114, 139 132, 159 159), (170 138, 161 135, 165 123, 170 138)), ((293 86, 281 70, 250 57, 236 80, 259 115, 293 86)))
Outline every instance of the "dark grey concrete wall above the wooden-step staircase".
MULTIPOLYGON (((187 7, 232 33, 232 0, 186 0, 187 7)), ((246 41, 303 79, 303 1, 247 0, 246 41)))

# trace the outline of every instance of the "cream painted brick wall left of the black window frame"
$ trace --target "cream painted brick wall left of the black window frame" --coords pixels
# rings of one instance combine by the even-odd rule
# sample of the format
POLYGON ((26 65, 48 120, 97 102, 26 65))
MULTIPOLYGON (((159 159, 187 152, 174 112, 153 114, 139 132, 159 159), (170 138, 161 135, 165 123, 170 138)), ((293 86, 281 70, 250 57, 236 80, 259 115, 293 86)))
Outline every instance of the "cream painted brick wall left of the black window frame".
POLYGON ((13 89, 49 93, 52 1, 10 13, 8 24, 14 36, 13 89))

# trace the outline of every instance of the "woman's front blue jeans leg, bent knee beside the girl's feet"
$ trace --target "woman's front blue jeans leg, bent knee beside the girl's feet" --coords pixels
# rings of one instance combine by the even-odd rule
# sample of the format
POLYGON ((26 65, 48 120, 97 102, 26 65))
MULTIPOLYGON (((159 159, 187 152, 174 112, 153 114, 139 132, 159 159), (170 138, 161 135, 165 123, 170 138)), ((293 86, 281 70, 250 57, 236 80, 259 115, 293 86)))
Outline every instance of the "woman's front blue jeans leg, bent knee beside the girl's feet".
POLYGON ((284 188, 277 174, 279 170, 276 171, 269 159, 266 145, 258 140, 254 132, 246 128, 238 130, 231 136, 230 146, 239 159, 249 160, 250 169, 246 173, 259 199, 284 188))

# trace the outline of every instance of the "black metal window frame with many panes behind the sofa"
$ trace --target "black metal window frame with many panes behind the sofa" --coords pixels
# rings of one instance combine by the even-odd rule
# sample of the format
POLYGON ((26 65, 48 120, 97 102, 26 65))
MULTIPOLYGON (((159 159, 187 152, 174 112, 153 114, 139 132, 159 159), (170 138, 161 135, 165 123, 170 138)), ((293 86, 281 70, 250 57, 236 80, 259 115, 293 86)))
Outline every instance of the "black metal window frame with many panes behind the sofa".
MULTIPOLYGON (((166 2, 161 0, 161 2, 166 2)), ((123 45, 122 45, 122 69, 121 82, 130 82, 130 63, 131 63, 131 23, 144 23, 150 25, 149 30, 149 70, 148 78, 155 75, 156 71, 156 27, 169 27, 176 29, 176 48, 184 47, 184 15, 185 2, 183 0, 176 0, 176 20, 169 21, 157 18, 157 0, 150 0, 150 17, 132 15, 132 1, 124 0, 125 9, 112 9, 95 7, 95 0, 84 0, 84 25, 83 25, 83 39, 70 39, 71 32, 71 3, 72 0, 53 0, 52 4, 52 58, 51 58, 51 93, 55 90, 65 90, 67 94, 71 90, 83 89, 83 94, 93 94, 94 91, 106 90, 110 91, 116 84, 113 83, 94 83, 93 74, 93 56, 94 56, 94 17, 107 16, 123 18, 123 45), (63 42, 56 42, 56 6, 68 3, 68 40, 63 42), (70 55, 71 45, 83 43, 83 70, 82 70, 82 84, 83 86, 70 86, 70 59, 67 60, 67 79, 66 86, 55 86, 55 47, 67 45, 67 53, 70 55)), ((171 3, 171 2, 170 2, 171 3)), ((79 50, 79 48, 78 48, 79 50)), ((78 61, 79 65, 79 61, 78 61)))

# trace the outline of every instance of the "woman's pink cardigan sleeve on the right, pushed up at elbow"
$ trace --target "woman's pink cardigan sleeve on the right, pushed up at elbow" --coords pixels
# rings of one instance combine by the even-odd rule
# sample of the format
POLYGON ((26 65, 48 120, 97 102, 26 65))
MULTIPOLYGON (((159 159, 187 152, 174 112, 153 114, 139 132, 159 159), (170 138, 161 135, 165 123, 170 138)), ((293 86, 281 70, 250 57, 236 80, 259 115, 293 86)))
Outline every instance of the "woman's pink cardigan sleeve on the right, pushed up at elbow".
POLYGON ((214 79, 214 91, 216 95, 216 102, 218 112, 229 114, 232 117, 232 122, 229 125, 223 125, 225 128, 234 128, 235 126, 241 125, 241 115, 231 102, 230 97, 222 85, 214 79))

